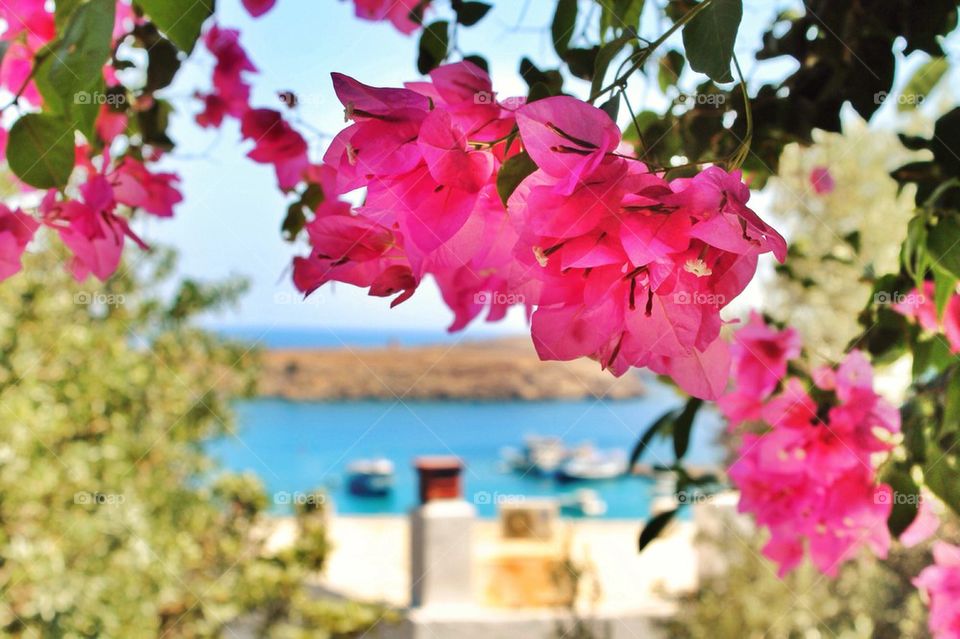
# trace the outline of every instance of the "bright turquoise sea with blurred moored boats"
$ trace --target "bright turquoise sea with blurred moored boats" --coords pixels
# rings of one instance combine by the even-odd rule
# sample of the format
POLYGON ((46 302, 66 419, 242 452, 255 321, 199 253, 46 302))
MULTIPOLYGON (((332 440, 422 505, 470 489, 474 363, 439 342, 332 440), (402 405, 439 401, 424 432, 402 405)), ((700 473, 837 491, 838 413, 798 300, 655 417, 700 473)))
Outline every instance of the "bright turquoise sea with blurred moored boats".
MULTIPOLYGON (((268 343, 316 346, 322 339, 314 336, 311 343, 305 343, 303 335, 281 335, 268 343)), ((373 337, 369 340, 376 341, 373 337)), ((369 340, 358 343, 355 337, 351 345, 370 345, 369 340)), ((623 401, 257 399, 238 403, 237 432, 212 442, 210 450, 225 468, 259 475, 276 496, 274 510, 278 512, 289 509, 285 500, 289 502, 297 493, 319 487, 328 491, 339 513, 405 513, 416 502, 413 459, 418 455, 455 455, 466 466, 466 498, 476 504, 481 516, 493 516, 497 503, 518 496, 556 496, 588 487, 607 502, 606 517, 639 519, 649 514, 653 488, 649 479, 560 484, 550 478, 506 471, 501 451, 504 447, 520 447, 525 435, 537 434, 560 436, 570 445, 592 442, 601 449, 629 452, 656 417, 681 402, 671 389, 652 378, 648 384, 650 392, 645 397, 623 401), (348 493, 346 465, 369 457, 386 457, 394 462, 396 480, 391 496, 360 498, 348 493)), ((687 454, 690 464, 722 459, 723 450, 716 443, 720 427, 715 414, 701 411, 687 454)), ((653 464, 669 464, 672 460, 672 443, 667 440, 656 442, 644 456, 644 461, 653 464)))

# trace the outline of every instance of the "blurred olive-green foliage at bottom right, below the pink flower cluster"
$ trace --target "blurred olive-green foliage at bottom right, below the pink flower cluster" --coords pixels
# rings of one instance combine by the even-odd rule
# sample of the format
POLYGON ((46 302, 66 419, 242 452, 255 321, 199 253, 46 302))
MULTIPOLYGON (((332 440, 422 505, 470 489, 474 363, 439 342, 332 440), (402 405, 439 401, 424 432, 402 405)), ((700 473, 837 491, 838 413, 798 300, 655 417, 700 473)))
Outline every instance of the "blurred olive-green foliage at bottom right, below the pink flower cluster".
MULTIPOLYGON (((958 539, 956 520, 941 538, 958 539)), ((931 562, 929 547, 896 545, 886 561, 864 553, 836 579, 807 562, 784 579, 760 556, 762 539, 737 525, 700 540, 724 566, 681 599, 666 630, 676 639, 923 639, 926 607, 911 579, 931 562)))

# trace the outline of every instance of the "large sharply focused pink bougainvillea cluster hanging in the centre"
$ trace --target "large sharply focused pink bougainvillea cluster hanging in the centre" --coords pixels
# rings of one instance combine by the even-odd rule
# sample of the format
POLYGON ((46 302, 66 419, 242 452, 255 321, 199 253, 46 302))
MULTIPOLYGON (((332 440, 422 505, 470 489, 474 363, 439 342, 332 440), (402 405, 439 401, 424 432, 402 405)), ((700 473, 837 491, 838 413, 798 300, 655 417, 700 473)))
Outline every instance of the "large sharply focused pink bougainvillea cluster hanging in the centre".
POLYGON ((723 391, 720 310, 760 254, 786 255, 739 173, 667 180, 627 155, 604 111, 567 96, 498 101, 469 62, 402 89, 339 74, 334 86, 352 124, 320 168, 328 197, 294 265, 302 291, 343 281, 401 293, 396 304, 429 274, 451 330, 486 306, 496 320, 525 304, 543 359, 644 366, 699 397, 723 391), (497 175, 521 151, 535 170, 504 207, 497 175), (331 197, 360 188, 355 210, 331 197))

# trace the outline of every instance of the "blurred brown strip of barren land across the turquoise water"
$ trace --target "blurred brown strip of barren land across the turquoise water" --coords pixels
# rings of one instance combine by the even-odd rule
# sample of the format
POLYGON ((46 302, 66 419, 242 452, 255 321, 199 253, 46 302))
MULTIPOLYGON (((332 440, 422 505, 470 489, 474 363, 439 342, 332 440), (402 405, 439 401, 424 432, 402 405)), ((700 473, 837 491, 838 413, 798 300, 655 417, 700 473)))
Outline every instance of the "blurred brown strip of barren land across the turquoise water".
POLYGON ((422 347, 271 350, 259 393, 291 400, 536 400, 644 393, 639 374, 596 362, 542 362, 529 339, 422 347))

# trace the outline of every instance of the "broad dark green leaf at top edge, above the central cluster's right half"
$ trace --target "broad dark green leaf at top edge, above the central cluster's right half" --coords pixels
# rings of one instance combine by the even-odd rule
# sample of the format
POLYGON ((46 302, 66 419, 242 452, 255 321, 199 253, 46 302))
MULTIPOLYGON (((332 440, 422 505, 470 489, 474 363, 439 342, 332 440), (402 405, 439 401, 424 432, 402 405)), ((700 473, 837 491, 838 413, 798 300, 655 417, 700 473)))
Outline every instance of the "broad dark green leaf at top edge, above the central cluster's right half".
POLYGON ((732 82, 730 60, 743 18, 742 0, 713 0, 683 27, 683 46, 694 71, 732 82))

